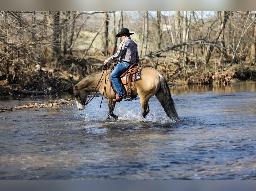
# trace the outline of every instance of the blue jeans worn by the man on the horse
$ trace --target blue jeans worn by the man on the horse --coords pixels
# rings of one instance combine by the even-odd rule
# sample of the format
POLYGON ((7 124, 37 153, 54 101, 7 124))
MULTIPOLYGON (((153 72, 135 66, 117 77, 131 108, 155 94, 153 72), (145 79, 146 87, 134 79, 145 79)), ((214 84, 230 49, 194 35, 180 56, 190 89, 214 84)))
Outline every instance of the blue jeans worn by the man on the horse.
POLYGON ((120 80, 121 74, 130 68, 132 64, 127 62, 120 62, 110 74, 111 82, 119 96, 126 95, 125 88, 120 80))

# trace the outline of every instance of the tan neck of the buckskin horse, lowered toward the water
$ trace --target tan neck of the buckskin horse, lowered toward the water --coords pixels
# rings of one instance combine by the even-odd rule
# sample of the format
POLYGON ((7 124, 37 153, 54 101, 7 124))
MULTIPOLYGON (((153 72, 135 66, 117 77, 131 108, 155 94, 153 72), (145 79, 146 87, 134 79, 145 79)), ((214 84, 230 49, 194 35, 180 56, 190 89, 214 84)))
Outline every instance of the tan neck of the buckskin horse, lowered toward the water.
MULTIPOLYGON (((97 72, 95 74, 85 77, 83 80, 81 80, 77 84, 78 89, 94 90, 95 87, 98 85, 99 81, 102 79, 105 79, 105 72, 103 75, 102 75, 102 73, 103 72, 97 72), (102 79, 101 79, 101 76, 102 76, 102 79)), ((107 71, 107 76, 108 75, 109 75, 109 72, 107 71)), ((101 83, 99 83, 99 84, 101 84, 101 83)))

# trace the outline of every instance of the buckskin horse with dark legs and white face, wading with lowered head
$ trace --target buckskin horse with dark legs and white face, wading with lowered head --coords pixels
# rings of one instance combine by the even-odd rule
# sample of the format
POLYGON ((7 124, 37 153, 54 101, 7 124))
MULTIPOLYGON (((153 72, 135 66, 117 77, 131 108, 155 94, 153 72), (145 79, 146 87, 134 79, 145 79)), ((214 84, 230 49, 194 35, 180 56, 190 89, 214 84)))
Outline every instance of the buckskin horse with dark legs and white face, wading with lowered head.
MULTIPOLYGON (((85 108, 85 105, 90 102, 89 100, 87 100, 88 94, 91 91, 99 91, 103 95, 103 97, 108 100, 108 119, 110 117, 117 119, 118 116, 113 113, 116 104, 116 101, 114 101, 113 99, 115 99, 116 95, 115 91, 111 88, 109 81, 111 69, 106 69, 105 75, 103 75, 104 70, 103 72, 96 72, 85 77, 76 85, 73 84, 73 93, 78 109, 83 110, 85 108)), ((174 101, 171 97, 168 83, 163 75, 161 75, 154 68, 143 67, 141 70, 141 79, 131 82, 130 88, 133 97, 139 95, 140 104, 142 107, 142 116, 144 118, 149 113, 148 101, 151 97, 155 95, 158 101, 161 103, 167 116, 172 121, 180 121, 175 109, 174 101)))

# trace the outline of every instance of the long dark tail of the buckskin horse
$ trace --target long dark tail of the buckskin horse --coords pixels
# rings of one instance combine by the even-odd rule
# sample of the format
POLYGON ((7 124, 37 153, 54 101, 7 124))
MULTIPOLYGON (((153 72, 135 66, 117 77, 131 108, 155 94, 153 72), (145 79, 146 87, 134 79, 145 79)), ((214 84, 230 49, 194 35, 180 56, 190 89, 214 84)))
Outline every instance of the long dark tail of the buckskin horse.
POLYGON ((161 87, 159 88, 157 94, 155 95, 159 102, 161 103, 164 111, 166 112, 167 116, 172 121, 180 121, 177 111, 175 109, 175 103, 171 98, 170 88, 166 79, 160 75, 161 87))

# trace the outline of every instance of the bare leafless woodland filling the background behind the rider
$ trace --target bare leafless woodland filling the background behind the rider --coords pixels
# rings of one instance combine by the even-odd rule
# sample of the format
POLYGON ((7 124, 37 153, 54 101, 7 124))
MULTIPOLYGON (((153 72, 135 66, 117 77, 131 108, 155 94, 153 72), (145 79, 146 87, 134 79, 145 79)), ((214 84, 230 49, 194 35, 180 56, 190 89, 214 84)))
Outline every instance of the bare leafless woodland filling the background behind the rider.
MULTIPOLYGON (((76 72, 82 69, 85 71, 86 69, 79 68, 78 65, 82 63, 81 60, 84 61, 90 48, 98 49, 102 46, 103 52, 99 48, 98 52, 92 54, 104 53, 105 56, 110 50, 108 47, 111 42, 114 47, 113 54, 116 52, 120 38, 116 38, 115 35, 123 28, 124 23, 129 28, 138 29, 137 35, 134 36, 138 42, 140 55, 158 57, 159 61, 162 59, 165 62, 165 66, 169 65, 166 60, 186 63, 188 58, 191 62, 187 67, 195 64, 198 72, 201 71, 200 66, 204 69, 206 64, 213 69, 217 69, 217 66, 218 69, 224 68, 223 66, 227 69, 228 66, 237 63, 242 66, 255 65, 255 11, 106 13, 0 11, 0 79, 10 84, 22 82, 25 85, 34 80, 35 66, 39 65, 40 68, 51 65, 54 69, 57 66, 54 65, 56 62, 65 62, 58 65, 58 68, 62 67, 68 72, 75 68, 76 72), (112 17, 110 13, 114 16, 112 17), (142 14, 138 16, 137 13, 142 14), (113 34, 109 35, 109 32, 113 34), (103 38, 99 34, 102 34, 103 38), (182 55, 184 56, 180 57, 182 55), (67 63, 72 63, 72 66, 68 66, 67 63), (201 63, 204 65, 200 65, 201 63)), ((51 75, 58 74, 54 72, 51 75)))

